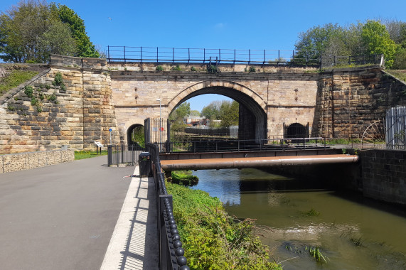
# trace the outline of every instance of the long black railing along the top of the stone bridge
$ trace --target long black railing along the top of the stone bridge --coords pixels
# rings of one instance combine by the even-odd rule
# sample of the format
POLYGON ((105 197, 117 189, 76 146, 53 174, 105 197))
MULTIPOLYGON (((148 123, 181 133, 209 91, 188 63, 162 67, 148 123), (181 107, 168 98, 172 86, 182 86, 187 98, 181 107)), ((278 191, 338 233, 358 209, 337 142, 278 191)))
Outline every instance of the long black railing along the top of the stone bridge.
POLYGON ((107 46, 107 61, 124 63, 201 63, 294 65, 334 67, 336 65, 383 65, 381 55, 320 55, 316 51, 237 50, 206 48, 160 48, 107 46))

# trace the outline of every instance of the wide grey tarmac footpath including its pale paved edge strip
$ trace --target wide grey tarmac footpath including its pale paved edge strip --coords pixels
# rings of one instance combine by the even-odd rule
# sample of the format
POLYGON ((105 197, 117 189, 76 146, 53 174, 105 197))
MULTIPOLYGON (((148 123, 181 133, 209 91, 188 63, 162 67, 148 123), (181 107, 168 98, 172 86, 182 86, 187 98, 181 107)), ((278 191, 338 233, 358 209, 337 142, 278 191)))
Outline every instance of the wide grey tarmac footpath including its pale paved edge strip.
POLYGON ((149 199, 144 189, 151 180, 123 178, 134 167, 108 168, 105 163, 107 156, 101 156, 0 173, 0 269, 98 270, 107 263, 112 268, 104 269, 158 268, 144 267, 150 263, 145 261, 157 264, 154 243, 144 244, 153 252, 140 248, 144 235, 154 238, 154 213, 145 214, 141 198, 146 194, 149 199), (128 201, 132 197, 138 198, 135 205, 128 201), (151 217, 148 223, 142 215, 151 217), (119 217, 124 221, 117 222, 119 217), (127 237, 117 238, 121 234, 127 237), (110 254, 114 243, 121 249, 118 261, 110 254))

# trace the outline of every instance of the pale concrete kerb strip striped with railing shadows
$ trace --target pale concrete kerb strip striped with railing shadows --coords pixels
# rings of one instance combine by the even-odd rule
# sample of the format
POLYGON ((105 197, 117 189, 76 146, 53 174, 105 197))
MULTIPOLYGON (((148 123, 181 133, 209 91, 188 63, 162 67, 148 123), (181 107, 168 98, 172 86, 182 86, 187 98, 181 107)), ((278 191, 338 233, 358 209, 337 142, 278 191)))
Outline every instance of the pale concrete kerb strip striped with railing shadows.
POLYGON ((133 175, 100 270, 159 269, 154 178, 133 175))

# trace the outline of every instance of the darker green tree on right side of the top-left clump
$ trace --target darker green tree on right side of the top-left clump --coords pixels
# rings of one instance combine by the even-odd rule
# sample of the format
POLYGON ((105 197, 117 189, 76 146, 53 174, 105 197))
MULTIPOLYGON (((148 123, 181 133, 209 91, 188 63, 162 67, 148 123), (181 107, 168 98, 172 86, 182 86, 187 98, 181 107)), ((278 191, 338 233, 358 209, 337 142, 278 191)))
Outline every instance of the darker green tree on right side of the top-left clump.
POLYGON ((90 42, 89 36, 85 31, 85 22, 78 16, 75 11, 69 9, 68 6, 55 4, 51 5, 51 9, 57 11, 60 21, 66 23, 72 34, 72 37, 76 41, 78 46, 78 55, 79 57, 90 57, 98 58, 100 54, 95 49, 95 45, 90 42))

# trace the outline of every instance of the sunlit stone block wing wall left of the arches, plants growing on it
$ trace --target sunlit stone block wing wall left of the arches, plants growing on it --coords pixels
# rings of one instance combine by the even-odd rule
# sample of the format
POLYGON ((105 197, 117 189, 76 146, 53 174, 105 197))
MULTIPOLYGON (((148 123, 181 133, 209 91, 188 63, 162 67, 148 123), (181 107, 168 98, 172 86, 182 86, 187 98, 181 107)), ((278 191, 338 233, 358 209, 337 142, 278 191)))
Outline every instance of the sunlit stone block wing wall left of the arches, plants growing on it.
POLYGON ((94 148, 119 142, 105 60, 51 56, 50 69, 0 101, 0 153, 44 151, 68 145, 94 148), (62 75, 63 84, 55 83, 62 75), (31 87, 32 97, 27 93, 31 87))

